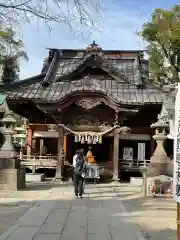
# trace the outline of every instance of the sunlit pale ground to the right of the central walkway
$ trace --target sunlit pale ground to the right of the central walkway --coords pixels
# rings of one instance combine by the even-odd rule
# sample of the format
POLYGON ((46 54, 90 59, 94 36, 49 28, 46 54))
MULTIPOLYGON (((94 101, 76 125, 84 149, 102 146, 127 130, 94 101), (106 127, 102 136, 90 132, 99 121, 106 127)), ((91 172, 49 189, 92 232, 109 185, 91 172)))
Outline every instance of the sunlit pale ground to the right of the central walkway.
POLYGON ((114 188, 145 239, 176 239, 176 202, 173 198, 143 197, 140 188, 124 185, 114 188))

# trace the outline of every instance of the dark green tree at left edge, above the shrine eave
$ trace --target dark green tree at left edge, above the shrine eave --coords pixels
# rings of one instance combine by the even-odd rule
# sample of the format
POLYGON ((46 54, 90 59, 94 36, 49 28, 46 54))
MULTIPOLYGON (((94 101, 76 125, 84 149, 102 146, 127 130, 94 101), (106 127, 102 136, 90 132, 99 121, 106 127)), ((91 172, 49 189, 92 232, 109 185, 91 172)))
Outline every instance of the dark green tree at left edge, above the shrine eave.
POLYGON ((12 29, 0 31, 0 65, 2 66, 3 83, 11 83, 19 80, 19 61, 28 60, 23 49, 23 42, 16 40, 15 32, 12 29))

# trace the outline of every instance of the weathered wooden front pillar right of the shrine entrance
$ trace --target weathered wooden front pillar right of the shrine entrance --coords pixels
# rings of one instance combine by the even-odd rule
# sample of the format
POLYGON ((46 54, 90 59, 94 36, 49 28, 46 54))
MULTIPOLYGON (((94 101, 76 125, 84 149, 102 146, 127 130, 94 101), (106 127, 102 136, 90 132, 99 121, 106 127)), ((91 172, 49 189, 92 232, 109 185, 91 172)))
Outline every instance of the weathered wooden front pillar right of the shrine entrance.
POLYGON ((113 181, 119 181, 119 129, 114 130, 113 181))

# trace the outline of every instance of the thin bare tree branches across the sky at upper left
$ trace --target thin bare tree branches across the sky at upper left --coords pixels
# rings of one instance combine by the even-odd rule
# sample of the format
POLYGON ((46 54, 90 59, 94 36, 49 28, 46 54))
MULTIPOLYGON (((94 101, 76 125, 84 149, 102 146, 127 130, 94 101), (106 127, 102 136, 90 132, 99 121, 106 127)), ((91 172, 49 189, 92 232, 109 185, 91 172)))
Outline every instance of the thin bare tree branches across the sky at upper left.
POLYGON ((65 24, 73 31, 79 26, 89 32, 98 30, 102 0, 2 0, 0 22, 7 25, 41 20, 51 26, 65 24))

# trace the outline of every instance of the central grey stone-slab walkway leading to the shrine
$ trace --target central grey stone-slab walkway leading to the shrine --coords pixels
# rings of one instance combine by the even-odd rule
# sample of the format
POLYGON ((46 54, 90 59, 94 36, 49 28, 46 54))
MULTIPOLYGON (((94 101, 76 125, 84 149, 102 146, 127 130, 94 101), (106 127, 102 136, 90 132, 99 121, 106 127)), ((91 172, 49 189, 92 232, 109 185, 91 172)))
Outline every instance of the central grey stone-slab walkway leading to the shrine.
POLYGON ((88 185, 84 199, 72 186, 53 187, 0 240, 144 240, 112 185, 88 185))

